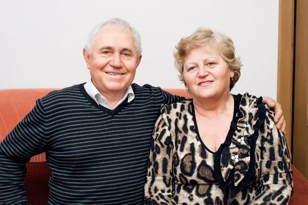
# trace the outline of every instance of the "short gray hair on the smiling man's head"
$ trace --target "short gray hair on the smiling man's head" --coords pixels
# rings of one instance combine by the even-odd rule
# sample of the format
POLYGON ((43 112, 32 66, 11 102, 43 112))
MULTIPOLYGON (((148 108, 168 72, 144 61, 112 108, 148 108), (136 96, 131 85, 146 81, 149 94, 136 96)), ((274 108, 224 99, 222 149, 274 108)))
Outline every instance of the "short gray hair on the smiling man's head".
POLYGON ((106 20, 106 22, 102 22, 101 24, 95 26, 90 31, 86 45, 84 46, 85 50, 87 51, 89 55, 91 55, 92 53, 93 44, 94 44, 95 37, 97 36, 98 32, 101 29, 108 28, 108 27, 115 28, 115 29, 129 29, 132 32, 132 35, 134 37, 138 57, 141 55, 142 53, 141 37, 138 31, 134 29, 133 27, 131 27, 125 20, 121 18, 110 18, 109 20, 106 20))

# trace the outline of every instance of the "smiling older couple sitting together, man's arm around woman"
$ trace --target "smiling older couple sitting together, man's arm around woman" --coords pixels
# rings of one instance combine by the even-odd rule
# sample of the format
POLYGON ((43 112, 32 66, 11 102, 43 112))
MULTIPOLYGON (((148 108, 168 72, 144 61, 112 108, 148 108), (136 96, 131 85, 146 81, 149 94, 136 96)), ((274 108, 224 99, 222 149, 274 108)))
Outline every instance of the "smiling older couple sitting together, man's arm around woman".
POLYGON ((122 19, 90 32, 91 79, 38 99, 0 144, 0 204, 26 204, 25 163, 42 152, 49 204, 287 204, 281 108, 263 100, 274 116, 262 97, 230 94, 241 67, 232 40, 205 28, 180 40, 188 100, 132 84, 141 51, 122 19))

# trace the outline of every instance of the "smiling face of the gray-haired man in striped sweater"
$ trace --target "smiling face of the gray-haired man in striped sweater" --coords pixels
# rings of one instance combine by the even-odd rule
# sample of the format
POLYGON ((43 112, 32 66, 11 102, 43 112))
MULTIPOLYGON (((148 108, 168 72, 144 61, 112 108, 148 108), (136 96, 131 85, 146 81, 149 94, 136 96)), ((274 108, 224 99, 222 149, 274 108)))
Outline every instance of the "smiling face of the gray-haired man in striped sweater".
POLYGON ((141 60, 132 32, 114 28, 100 30, 91 55, 84 50, 84 58, 94 86, 104 96, 123 94, 141 60))

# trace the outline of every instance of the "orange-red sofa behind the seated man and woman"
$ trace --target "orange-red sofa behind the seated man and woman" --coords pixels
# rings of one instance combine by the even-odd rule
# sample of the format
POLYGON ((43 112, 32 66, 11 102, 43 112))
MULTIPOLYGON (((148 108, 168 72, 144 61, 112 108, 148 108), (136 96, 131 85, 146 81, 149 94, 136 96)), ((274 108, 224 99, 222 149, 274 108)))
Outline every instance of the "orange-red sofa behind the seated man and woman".
MULTIPOLYGON (((30 112, 35 100, 55 89, 0 90, 0 142, 30 112)), ((172 94, 189 98, 184 89, 164 89, 172 94)), ((27 163, 25 189, 29 205, 44 205, 48 200, 48 180, 51 175, 45 153, 33 156, 27 163)), ((289 204, 308 204, 308 179, 293 165, 294 195, 289 204)))

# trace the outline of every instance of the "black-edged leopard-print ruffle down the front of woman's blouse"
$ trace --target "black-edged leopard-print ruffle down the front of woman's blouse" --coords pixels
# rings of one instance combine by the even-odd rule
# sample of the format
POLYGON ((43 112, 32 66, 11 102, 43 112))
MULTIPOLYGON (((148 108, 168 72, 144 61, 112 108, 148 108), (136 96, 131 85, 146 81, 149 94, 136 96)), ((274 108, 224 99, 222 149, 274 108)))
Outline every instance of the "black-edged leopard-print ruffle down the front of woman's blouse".
POLYGON ((238 94, 234 106, 236 117, 231 122, 226 141, 214 155, 215 177, 224 194, 231 183, 232 198, 251 181, 258 131, 265 120, 262 97, 238 94))

